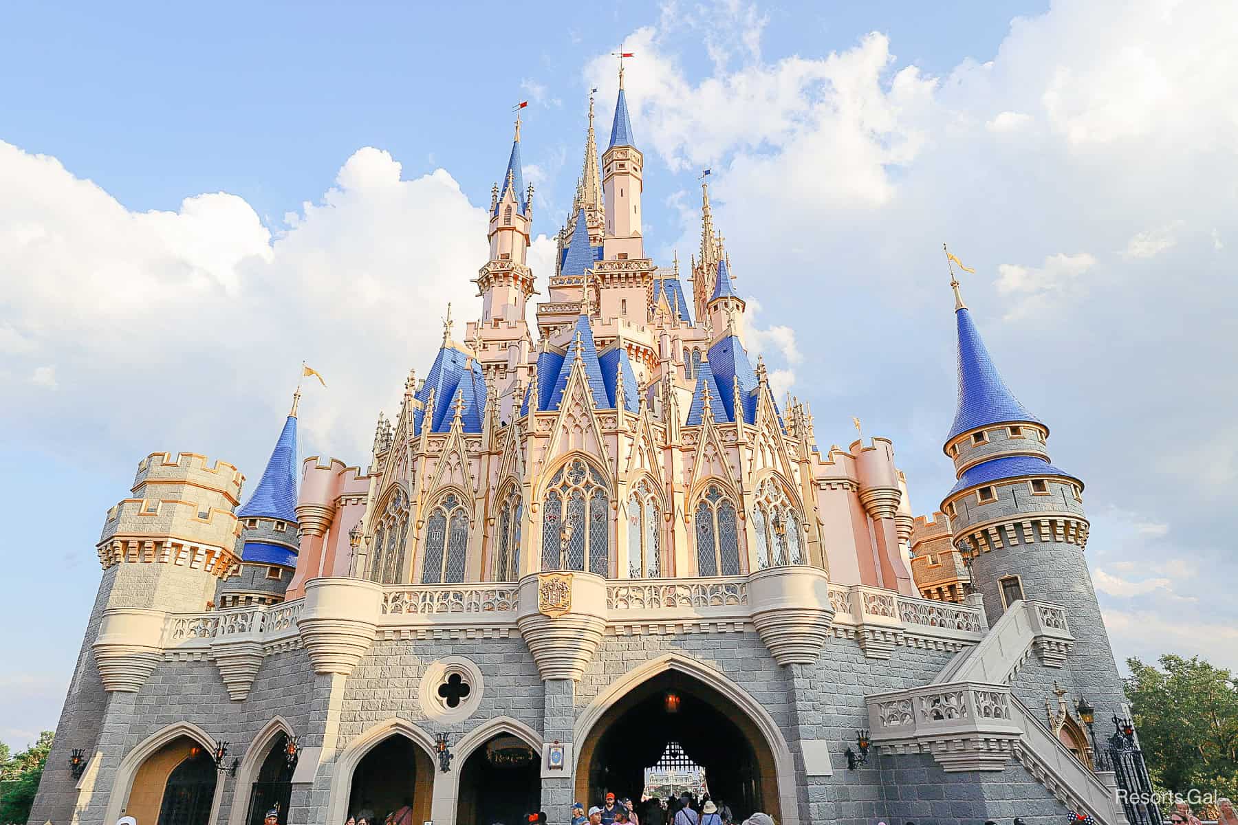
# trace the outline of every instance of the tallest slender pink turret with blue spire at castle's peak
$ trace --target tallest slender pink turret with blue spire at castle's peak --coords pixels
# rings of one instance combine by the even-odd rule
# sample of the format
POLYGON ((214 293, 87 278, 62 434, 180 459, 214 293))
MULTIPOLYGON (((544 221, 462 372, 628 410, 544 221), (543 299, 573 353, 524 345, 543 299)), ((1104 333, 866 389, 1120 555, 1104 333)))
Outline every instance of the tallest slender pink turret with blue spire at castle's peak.
POLYGON ((623 66, 619 67, 619 98, 610 126, 610 143, 602 156, 602 188, 605 194, 607 241, 605 257, 620 255, 643 259, 644 241, 640 231, 640 194, 644 188, 645 157, 631 136, 628 96, 623 87, 623 66))

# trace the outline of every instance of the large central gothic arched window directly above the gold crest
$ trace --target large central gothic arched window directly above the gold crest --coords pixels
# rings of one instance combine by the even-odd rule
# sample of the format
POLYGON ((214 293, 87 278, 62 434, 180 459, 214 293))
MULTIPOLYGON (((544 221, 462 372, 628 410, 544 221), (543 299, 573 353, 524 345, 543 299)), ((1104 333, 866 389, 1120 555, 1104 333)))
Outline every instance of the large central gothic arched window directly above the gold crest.
POLYGON ((572 459, 542 498, 542 570, 610 571, 609 500, 593 465, 572 459))

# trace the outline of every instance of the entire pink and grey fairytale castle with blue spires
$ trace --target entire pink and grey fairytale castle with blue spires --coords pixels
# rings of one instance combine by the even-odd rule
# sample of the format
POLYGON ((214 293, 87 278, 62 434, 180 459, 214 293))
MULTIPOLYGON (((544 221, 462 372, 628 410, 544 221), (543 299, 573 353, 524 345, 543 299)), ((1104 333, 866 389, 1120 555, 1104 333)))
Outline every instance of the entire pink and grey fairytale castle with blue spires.
POLYGON ((298 466, 295 401, 251 490, 139 463, 31 825, 566 823, 655 767, 735 821, 1130 818, 1083 482, 958 283, 958 481, 916 519, 890 440, 823 449, 749 359, 707 186, 691 289, 646 256, 636 127, 620 71, 541 296, 517 121, 478 319, 363 466, 298 466))

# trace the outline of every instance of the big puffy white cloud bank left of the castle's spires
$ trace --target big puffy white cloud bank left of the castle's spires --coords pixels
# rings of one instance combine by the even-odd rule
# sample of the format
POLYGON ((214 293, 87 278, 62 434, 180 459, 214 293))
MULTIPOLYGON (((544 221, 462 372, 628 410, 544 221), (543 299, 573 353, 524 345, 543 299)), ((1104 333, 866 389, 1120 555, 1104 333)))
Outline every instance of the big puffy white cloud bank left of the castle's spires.
POLYGON ((401 179, 378 148, 349 157, 337 186, 274 236, 235 195, 134 213, 54 158, 7 143, 0 181, 0 228, 21 228, 0 230, 6 424, 52 443, 89 397, 106 435, 92 444, 118 453, 113 461, 154 449, 260 460, 302 359, 329 387, 306 393, 303 438, 359 460, 379 407, 390 411, 409 367, 433 356, 441 330, 425 319, 454 301, 459 331, 478 307, 469 280, 487 256, 484 209, 443 169, 401 179), (52 401, 56 385, 73 391, 52 401), (135 387, 181 400, 175 414, 126 401, 135 387), (270 427, 245 428, 254 432, 238 443, 238 409, 270 427), (175 440, 150 443, 152 433, 175 440))

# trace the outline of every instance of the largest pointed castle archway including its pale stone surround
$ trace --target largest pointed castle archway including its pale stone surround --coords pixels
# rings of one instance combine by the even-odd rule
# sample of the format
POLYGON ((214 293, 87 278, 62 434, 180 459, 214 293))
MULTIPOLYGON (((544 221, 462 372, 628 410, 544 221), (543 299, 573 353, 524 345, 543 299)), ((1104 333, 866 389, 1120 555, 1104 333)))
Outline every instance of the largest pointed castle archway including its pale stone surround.
POLYGON ((608 792, 638 800, 645 790, 665 798, 691 785, 690 769, 669 783, 652 772, 670 761, 699 768, 735 821, 754 811, 797 821, 792 763, 776 724, 722 674, 690 659, 664 657, 621 679, 582 714, 574 738, 576 798, 587 804, 608 792))

